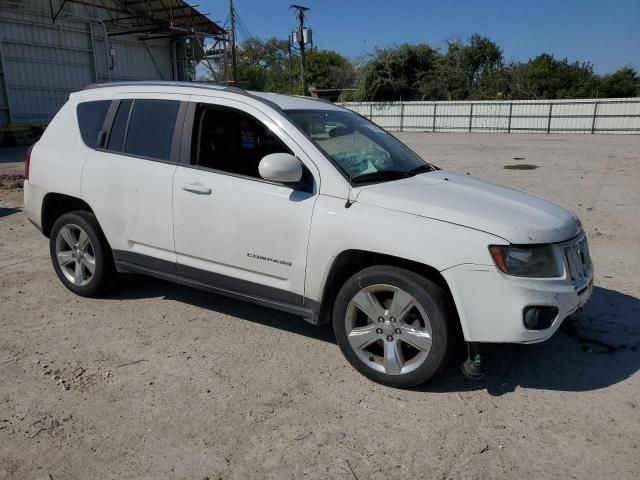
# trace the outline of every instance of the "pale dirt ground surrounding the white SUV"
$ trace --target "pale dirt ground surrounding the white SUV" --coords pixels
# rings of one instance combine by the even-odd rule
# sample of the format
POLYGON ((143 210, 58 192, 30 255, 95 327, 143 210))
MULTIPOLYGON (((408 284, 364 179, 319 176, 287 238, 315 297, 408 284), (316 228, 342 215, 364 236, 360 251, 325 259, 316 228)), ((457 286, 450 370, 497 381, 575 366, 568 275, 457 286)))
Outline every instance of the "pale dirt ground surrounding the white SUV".
POLYGON ((639 478, 640 136, 400 136, 576 211, 585 309, 546 343, 488 348, 484 381, 457 359, 395 390, 291 315, 138 276, 74 296, 5 187, 0 479, 639 478))

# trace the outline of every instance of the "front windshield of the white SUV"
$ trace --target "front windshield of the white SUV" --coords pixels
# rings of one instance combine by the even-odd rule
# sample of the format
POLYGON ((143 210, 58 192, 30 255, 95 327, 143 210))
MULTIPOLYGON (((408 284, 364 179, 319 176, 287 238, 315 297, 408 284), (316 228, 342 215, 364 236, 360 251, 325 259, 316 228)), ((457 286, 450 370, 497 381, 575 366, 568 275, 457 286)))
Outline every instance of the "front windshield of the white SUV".
POLYGON ((396 180, 434 170, 393 135, 353 112, 285 113, 353 183, 396 180))

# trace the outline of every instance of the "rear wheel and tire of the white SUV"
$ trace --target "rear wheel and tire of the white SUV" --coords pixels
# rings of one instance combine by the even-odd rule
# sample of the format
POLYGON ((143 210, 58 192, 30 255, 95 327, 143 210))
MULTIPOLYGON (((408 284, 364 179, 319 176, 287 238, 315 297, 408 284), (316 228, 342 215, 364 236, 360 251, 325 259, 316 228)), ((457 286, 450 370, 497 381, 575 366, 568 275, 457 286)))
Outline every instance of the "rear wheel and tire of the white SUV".
POLYGON ((106 290, 113 256, 95 215, 83 210, 61 215, 51 229, 49 252, 58 278, 73 293, 96 297, 106 290))

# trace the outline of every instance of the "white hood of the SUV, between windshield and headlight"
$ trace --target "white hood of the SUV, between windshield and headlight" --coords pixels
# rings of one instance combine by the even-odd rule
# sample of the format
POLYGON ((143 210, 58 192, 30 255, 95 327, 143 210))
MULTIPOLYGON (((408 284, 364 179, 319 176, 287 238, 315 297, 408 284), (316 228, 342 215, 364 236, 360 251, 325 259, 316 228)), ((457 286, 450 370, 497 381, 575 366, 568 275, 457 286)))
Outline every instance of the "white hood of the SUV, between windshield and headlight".
POLYGON ((573 213, 537 195, 445 170, 359 190, 359 203, 463 225, 516 244, 562 242, 581 230, 573 213))

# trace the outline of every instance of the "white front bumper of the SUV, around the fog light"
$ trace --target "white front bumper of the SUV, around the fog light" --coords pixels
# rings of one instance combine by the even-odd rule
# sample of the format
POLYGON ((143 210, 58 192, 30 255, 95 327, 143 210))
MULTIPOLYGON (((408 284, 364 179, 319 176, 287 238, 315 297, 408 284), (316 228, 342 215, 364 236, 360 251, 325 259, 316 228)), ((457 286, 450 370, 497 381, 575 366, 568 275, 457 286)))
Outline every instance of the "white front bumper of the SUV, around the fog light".
POLYGON ((522 278, 494 266, 458 265, 444 270, 468 342, 535 343, 549 339, 562 321, 583 306, 593 291, 593 269, 579 280, 568 268, 558 278, 522 278), (549 328, 529 330, 528 306, 552 306, 558 314, 549 328))

